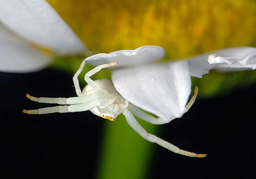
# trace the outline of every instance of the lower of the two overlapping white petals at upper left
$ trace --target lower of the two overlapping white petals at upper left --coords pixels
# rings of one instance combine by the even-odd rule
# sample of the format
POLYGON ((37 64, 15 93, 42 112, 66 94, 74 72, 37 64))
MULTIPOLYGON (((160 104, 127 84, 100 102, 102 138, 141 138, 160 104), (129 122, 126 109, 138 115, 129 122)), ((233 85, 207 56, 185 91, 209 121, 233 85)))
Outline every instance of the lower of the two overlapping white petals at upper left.
POLYGON ((51 62, 51 56, 33 49, 29 43, 0 24, 0 71, 33 72, 51 62))

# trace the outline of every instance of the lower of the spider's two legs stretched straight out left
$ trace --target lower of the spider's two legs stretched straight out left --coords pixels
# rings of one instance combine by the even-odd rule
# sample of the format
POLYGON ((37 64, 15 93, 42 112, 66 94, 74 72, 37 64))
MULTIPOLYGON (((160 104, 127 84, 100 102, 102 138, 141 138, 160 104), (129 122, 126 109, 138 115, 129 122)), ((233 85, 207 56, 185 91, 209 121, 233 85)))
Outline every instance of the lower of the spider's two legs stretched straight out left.
POLYGON ((24 109, 23 112, 27 114, 48 114, 48 113, 65 113, 65 112, 81 112, 92 109, 98 106, 101 102, 97 99, 82 103, 82 104, 73 104, 70 106, 54 106, 54 107, 45 107, 41 109, 34 109, 34 110, 26 110, 24 109))

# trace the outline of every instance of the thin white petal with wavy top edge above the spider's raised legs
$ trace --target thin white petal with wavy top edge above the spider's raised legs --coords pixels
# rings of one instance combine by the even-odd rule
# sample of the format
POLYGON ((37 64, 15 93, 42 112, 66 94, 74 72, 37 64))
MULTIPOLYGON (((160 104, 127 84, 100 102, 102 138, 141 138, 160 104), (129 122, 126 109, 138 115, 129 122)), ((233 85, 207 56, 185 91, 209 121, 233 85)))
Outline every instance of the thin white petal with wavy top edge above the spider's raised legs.
POLYGON ((92 66, 99 66, 101 64, 118 62, 114 67, 132 66, 160 60, 164 55, 165 51, 162 47, 142 46, 135 50, 120 50, 109 54, 92 55, 91 57, 86 58, 86 63, 91 64, 92 66))

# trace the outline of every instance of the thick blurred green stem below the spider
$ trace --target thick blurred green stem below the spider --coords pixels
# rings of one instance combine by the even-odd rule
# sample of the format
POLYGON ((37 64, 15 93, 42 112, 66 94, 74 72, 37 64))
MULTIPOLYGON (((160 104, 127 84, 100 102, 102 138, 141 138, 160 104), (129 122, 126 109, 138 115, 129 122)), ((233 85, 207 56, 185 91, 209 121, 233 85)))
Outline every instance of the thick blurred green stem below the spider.
MULTIPOLYGON (((143 139, 127 124, 124 116, 106 121, 98 179, 144 179, 150 171, 153 143, 143 139)), ((157 125, 139 121, 148 132, 157 125)))

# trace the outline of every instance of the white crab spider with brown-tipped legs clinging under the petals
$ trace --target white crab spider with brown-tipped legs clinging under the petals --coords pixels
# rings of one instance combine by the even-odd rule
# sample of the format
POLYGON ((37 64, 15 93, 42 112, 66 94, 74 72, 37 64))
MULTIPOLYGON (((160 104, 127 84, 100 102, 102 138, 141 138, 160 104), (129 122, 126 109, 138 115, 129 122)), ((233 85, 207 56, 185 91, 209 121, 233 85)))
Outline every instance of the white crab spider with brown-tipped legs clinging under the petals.
MULTIPOLYGON (((112 62, 108 64, 101 64, 91 71, 87 72, 85 75, 85 81, 87 85, 81 91, 78 76, 82 72, 83 67, 85 66, 85 61, 82 61, 79 69, 75 73, 73 77, 74 87, 76 90, 76 94, 78 97, 70 97, 70 98, 48 98, 48 97, 33 97, 29 94, 26 94, 26 97, 32 101, 36 101, 39 103, 55 103, 61 104, 64 106, 55 106, 55 107, 45 107, 36 110, 23 110, 24 113, 27 114, 45 114, 45 113, 65 113, 65 112, 81 112, 90 110, 97 116, 101 118, 108 119, 109 121, 115 121, 118 115, 123 113, 126 118, 127 123, 130 127, 133 128, 141 137, 144 139, 157 143, 158 145, 173 151, 177 154, 186 155, 189 157, 206 157, 205 154, 196 154, 193 152, 184 151, 179 149, 177 146, 153 135, 147 133, 147 131, 136 121, 135 116, 143 119, 144 121, 150 122, 151 124, 164 124, 162 118, 155 118, 148 113, 145 113, 126 99, 124 99, 115 89, 114 85, 108 79, 99 79, 93 81, 90 79, 92 75, 99 72, 103 68, 108 68, 115 66, 117 62, 112 62), (65 105, 68 104, 68 105, 65 105)), ((195 87, 194 95, 191 100, 185 107, 185 112, 192 106, 197 96, 198 87, 195 87)))

